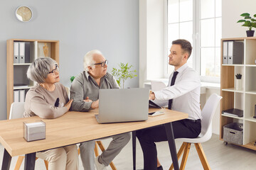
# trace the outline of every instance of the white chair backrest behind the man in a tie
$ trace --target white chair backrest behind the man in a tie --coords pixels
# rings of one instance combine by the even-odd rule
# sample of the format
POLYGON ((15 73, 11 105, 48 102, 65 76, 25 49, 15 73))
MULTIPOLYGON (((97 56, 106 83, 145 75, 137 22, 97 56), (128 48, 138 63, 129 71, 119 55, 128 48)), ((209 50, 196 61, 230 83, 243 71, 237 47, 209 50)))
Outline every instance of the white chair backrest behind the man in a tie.
POLYGON ((221 98, 222 97, 218 96, 217 94, 212 94, 206 101, 206 105, 203 107, 202 111, 202 135, 206 135, 206 133, 208 133, 211 137, 213 115, 221 98))

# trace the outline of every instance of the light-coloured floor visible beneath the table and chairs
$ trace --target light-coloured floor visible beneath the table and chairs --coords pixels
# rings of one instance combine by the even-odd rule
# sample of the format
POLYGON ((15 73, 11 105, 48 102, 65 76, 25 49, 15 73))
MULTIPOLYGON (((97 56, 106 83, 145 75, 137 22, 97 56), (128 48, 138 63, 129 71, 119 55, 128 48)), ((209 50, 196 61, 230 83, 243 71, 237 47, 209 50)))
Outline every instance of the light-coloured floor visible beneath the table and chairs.
MULTIPOLYGON (((102 141, 105 147, 108 145, 110 140, 102 141)), ((219 140, 218 135, 213 135, 213 137, 208 141, 202 144, 206 157, 210 164, 211 169, 256 169, 256 151, 246 149, 243 147, 238 147, 235 145, 223 145, 223 142, 219 140)), ((181 142, 176 142, 177 152, 178 148, 181 146, 181 142)), ((203 169, 201 166, 200 159, 198 158, 196 148, 194 145, 191 145, 191 152, 188 155, 188 161, 186 164, 186 169, 203 169)), ((157 143, 158 156, 161 164, 164 166, 164 169, 169 169, 171 165, 171 156, 169 152, 169 147, 167 142, 157 143)), ((0 160, 3 160, 4 148, 0 145, 0 160)), ((16 164, 17 157, 14 157, 11 161, 11 168, 14 169, 16 164)), ((1 164, 1 163, 0 163, 1 164)), ((114 164, 117 166, 117 169, 121 170, 130 170, 132 169, 132 141, 124 147, 122 152, 114 159, 114 164)), ((80 169, 82 168, 82 162, 79 162, 80 169)), ((143 155, 142 149, 137 141, 137 169, 143 168, 143 155)), ((23 169, 23 164, 21 165, 23 169)), ((36 161, 36 170, 45 170, 42 159, 36 161)), ((110 169, 110 167, 108 167, 110 169)))

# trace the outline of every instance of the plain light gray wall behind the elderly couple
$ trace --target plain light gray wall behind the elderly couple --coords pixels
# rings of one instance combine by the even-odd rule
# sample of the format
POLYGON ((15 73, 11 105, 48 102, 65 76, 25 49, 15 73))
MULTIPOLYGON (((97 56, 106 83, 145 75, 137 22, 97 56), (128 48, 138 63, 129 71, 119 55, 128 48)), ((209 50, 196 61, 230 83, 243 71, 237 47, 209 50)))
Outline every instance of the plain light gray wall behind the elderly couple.
MULTIPOLYGON (((98 49, 109 60, 108 70, 129 62, 139 71, 139 0, 1 0, 0 1, 0 120, 6 119, 6 40, 60 40, 60 82, 82 72, 82 57, 98 49), (18 6, 29 6, 28 23, 16 19, 18 6)), ((139 75, 139 73, 138 73, 139 75)), ((127 80, 138 87, 139 79, 127 80)))

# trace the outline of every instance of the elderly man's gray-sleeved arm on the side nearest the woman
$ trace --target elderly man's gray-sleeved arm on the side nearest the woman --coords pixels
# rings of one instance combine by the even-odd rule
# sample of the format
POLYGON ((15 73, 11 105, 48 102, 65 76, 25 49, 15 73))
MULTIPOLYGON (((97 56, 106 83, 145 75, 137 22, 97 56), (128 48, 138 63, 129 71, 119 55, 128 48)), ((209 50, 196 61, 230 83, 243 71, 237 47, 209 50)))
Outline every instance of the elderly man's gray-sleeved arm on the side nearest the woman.
POLYGON ((73 99, 73 103, 71 105, 70 111, 90 111, 92 108, 92 101, 86 102, 84 100, 84 91, 82 83, 82 79, 80 77, 76 77, 70 87, 70 98, 73 99))

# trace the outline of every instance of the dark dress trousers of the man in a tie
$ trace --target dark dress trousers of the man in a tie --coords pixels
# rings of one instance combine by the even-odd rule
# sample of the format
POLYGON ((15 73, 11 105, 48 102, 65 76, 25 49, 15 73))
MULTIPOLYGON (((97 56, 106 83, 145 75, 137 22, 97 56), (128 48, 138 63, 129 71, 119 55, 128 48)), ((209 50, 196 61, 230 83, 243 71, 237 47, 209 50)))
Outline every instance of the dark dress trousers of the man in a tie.
MULTIPOLYGON (((201 121, 178 120, 172 123, 174 138, 195 138, 201 132, 201 121)), ((144 170, 157 169, 157 151, 155 142, 167 141, 164 125, 158 125, 144 130, 137 130, 136 135, 142 147, 144 170)))

